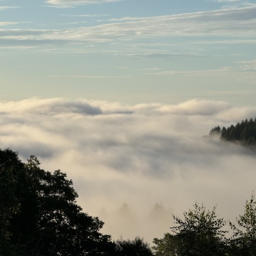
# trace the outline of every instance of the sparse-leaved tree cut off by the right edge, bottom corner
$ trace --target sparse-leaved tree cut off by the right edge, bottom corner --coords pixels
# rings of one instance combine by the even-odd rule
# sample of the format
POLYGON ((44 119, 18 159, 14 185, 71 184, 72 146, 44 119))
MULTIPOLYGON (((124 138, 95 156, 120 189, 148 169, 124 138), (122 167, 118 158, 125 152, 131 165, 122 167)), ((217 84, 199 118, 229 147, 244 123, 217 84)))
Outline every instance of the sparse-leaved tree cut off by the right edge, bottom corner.
POLYGON ((234 231, 230 244, 233 255, 253 256, 256 255, 256 201, 252 194, 250 200, 246 200, 244 214, 239 215, 236 225, 230 222, 234 231))

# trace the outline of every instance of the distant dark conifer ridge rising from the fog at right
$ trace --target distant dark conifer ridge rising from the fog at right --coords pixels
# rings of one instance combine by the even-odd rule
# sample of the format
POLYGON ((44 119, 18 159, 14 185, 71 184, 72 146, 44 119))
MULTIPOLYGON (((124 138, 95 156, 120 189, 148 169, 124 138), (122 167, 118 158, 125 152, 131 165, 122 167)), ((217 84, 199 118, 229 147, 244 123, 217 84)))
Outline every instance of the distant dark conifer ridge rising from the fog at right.
POLYGON ((256 146, 256 118, 242 120, 228 128, 221 129, 220 126, 216 126, 212 128, 209 135, 220 135, 221 140, 239 141, 243 145, 256 146))

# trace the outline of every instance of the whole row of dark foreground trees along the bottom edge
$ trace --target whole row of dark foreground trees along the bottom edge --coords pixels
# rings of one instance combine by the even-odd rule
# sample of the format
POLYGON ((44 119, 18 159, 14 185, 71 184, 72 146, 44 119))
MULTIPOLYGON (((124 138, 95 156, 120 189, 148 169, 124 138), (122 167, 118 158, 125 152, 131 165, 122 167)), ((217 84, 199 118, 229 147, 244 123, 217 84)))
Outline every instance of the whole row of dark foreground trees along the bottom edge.
POLYGON ((237 223, 219 218, 216 207, 207 210, 198 202, 183 218, 170 214, 175 225, 150 247, 140 237, 113 241, 100 233, 104 223, 76 204, 72 185, 60 170, 42 170, 35 156, 23 163, 17 152, 0 149, 0 255, 256 255, 254 194, 237 223), (229 236, 227 227, 232 230, 229 236))

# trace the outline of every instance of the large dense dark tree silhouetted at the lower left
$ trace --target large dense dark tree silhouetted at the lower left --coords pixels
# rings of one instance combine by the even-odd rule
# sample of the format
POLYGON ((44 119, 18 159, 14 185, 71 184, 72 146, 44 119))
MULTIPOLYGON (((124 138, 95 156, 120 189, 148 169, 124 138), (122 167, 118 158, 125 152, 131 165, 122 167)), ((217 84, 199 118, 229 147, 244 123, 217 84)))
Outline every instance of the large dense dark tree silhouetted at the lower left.
POLYGON ((31 156, 0 150, 0 255, 113 255, 103 222, 76 204, 72 180, 45 172, 31 156))

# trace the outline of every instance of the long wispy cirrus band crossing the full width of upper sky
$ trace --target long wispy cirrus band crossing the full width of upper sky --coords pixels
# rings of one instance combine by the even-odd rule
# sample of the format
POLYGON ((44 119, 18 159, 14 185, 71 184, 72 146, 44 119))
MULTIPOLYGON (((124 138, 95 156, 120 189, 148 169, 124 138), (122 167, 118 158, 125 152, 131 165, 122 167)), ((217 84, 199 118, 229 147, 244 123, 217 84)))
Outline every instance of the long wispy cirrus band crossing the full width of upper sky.
POLYGON ((256 6, 157 17, 126 17, 116 19, 115 22, 109 20, 97 26, 68 30, 2 29, 0 34, 2 38, 8 36, 9 40, 35 40, 38 45, 45 40, 52 45, 61 41, 65 44, 68 42, 69 44, 72 42, 122 43, 127 39, 131 41, 172 36, 234 36, 236 37, 234 40, 239 36, 253 40, 253 35, 256 35, 256 6))

